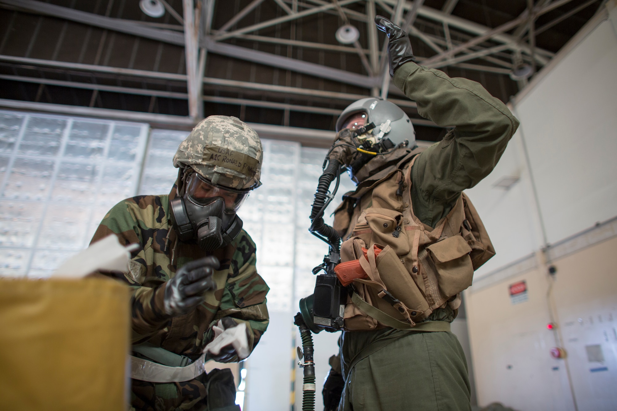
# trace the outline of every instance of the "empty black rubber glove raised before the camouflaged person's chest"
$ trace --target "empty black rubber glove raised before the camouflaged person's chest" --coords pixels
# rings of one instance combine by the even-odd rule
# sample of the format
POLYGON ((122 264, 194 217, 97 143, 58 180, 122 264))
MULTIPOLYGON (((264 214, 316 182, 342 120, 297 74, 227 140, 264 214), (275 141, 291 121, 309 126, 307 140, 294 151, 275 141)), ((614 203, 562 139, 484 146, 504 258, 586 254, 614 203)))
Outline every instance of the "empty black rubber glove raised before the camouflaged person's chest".
POLYGON ((205 257, 185 264, 176 276, 165 283, 165 313, 178 317, 189 313, 204 301, 204 293, 215 288, 214 270, 220 266, 217 257, 205 257))

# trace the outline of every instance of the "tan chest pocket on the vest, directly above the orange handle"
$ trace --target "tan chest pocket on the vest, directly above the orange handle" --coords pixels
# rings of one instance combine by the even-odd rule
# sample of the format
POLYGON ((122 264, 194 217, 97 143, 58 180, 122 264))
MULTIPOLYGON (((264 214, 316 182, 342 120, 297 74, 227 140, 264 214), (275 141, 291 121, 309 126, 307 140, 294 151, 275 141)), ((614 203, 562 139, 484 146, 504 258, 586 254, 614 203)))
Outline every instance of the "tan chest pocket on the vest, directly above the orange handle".
POLYGON ((387 244, 397 255, 405 255, 410 251, 409 240, 403 223, 403 214, 396 210, 373 208, 366 209, 366 222, 373 231, 369 247, 377 244, 387 244))

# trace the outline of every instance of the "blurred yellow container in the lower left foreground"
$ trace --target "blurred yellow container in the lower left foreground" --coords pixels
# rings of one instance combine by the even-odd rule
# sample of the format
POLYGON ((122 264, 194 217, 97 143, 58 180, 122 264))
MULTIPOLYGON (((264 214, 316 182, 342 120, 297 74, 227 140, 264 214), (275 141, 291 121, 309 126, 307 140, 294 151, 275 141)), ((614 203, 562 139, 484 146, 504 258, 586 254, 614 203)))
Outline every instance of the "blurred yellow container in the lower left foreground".
POLYGON ((129 301, 104 278, 0 280, 0 409, 126 410, 129 301))

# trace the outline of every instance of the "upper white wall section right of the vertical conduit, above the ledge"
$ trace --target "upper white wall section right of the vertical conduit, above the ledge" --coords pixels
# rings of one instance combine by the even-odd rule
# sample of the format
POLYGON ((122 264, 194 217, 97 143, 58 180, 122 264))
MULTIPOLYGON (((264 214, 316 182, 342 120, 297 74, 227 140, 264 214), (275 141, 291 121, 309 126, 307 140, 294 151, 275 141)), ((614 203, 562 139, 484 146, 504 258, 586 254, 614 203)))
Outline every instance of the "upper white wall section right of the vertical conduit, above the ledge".
POLYGON ((606 20, 516 106, 549 243, 617 215, 616 67, 606 20))

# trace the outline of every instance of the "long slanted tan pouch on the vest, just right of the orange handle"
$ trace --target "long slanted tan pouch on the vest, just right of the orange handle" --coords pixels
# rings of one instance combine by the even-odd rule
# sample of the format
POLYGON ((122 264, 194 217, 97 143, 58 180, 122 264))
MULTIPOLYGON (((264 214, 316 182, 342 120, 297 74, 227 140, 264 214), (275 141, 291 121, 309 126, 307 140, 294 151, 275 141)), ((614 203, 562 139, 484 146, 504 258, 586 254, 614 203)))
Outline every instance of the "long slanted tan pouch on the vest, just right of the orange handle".
POLYGON ((385 247, 375 259, 375 265, 387 291, 412 310, 412 318, 422 318, 422 314, 429 308, 428 302, 394 249, 385 247))

